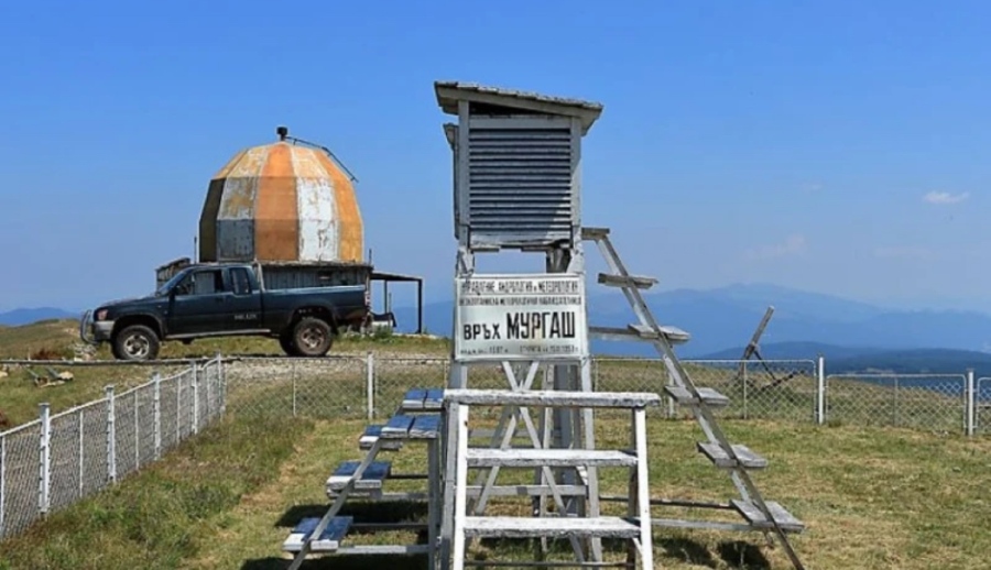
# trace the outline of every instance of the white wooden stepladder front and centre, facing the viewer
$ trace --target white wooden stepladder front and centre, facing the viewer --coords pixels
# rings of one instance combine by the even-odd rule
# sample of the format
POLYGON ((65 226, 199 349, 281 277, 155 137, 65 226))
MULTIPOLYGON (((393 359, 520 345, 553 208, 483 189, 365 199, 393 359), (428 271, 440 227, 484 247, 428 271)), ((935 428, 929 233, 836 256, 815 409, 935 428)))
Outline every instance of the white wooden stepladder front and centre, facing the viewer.
MULTIPOLYGON (((471 538, 564 538, 575 547, 578 566, 601 567, 601 562, 586 562, 579 538, 620 538, 630 542, 630 568, 640 558, 644 570, 654 568, 650 486, 647 478, 646 408, 660 406, 661 397, 650 393, 609 393, 577 391, 513 391, 513 390, 447 390, 444 393, 447 438, 454 442, 454 472, 445 473, 445 494, 454 495, 450 563, 445 568, 462 570, 468 562, 467 542, 471 538), (632 412, 633 449, 548 449, 531 421, 526 421, 533 448, 490 448, 469 446, 469 410, 473 406, 513 406, 529 408, 625 408, 632 412), (631 485, 628 495, 628 516, 602 516, 597 509, 585 516, 568 516, 562 493, 551 485, 557 504, 557 516, 491 516, 468 509, 469 469, 543 469, 553 481, 553 468, 629 468, 631 485)), ((529 413, 529 412, 524 412, 529 413)), ((482 562, 487 564, 487 562, 482 562)), ((518 567, 560 566, 544 560, 513 561, 518 567)))

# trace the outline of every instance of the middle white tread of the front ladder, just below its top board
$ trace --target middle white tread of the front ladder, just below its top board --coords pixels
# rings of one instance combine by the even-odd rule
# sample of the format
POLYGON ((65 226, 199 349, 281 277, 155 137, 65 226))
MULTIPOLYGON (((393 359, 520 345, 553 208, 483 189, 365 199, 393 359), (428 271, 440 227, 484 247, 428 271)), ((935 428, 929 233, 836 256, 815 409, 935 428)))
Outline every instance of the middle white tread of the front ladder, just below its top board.
POLYGON ((633 467, 636 456, 602 449, 469 448, 468 467, 633 467))

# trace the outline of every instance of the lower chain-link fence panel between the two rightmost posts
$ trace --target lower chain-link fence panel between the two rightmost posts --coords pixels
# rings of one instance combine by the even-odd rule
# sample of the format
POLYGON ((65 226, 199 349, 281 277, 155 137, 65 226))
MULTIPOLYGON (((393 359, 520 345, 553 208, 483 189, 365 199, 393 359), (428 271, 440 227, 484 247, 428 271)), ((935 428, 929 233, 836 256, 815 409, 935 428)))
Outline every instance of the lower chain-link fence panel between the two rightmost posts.
POLYGON ((967 428, 966 374, 830 374, 826 417, 860 426, 959 432, 967 428))

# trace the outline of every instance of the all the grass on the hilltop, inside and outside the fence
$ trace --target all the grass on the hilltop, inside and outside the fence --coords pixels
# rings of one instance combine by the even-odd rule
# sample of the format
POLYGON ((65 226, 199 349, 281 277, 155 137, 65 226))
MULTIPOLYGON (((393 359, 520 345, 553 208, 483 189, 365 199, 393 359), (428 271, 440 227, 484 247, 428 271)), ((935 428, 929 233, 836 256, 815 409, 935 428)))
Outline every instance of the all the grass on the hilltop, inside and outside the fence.
MULTIPOLYGON (((59 321, 0 328, 0 354, 23 358, 31 351, 68 350, 68 330, 70 326, 59 321), (19 329, 23 335, 11 335, 19 329), (44 335, 62 336, 45 340, 44 335), (57 339, 66 342, 62 349, 57 339)), ((260 354, 277 353, 277 344, 226 339, 174 344, 167 350, 175 352, 163 355, 213 355, 216 350, 260 354), (275 348, 270 350, 270 346, 275 348)), ((406 358, 402 362, 384 357, 377 360, 380 416, 399 403, 405 390, 440 385, 446 375, 444 341, 347 339, 337 350, 356 357, 372 350, 406 358)), ((730 439, 770 459, 771 467, 755 479, 769 500, 781 502, 808 525, 806 534, 794 537, 793 544, 810 568, 987 566, 984 552, 991 550, 991 535, 984 529, 991 525, 991 504, 982 476, 991 467, 987 459, 991 440, 957 435, 959 397, 902 391, 894 398, 889 387, 838 379, 829 384, 830 424, 816 426, 810 421, 815 403, 810 368, 796 364, 795 370, 776 370, 778 377, 795 374, 775 387, 767 387, 771 379, 765 374, 750 372, 744 394, 742 383, 730 382, 731 370, 687 366, 699 385, 716 387, 732 398, 731 406, 719 412, 730 439), (748 419, 738 419, 741 417, 748 419), (916 429, 893 428, 892 424, 916 429)), ((14 369, 10 377, 0 380, 0 406, 20 423, 36 415, 37 402, 51 402, 57 412, 102 396, 107 383, 117 383, 122 390, 144 382, 152 370, 73 368, 73 382, 42 388, 30 382, 26 372, 14 369)), ((295 361, 291 365, 246 361, 232 363, 228 370, 231 415, 227 419, 173 450, 165 461, 0 544, 0 569, 284 568, 280 545, 288 529, 303 514, 322 514, 327 506, 323 490, 327 474, 339 461, 361 457, 356 439, 366 424, 360 419, 364 370, 360 359, 295 361), (291 406, 316 419, 286 418, 291 406)), ((505 387, 497 366, 477 372, 472 373, 472 386, 505 387)), ((656 362, 603 360, 593 370, 598 390, 656 391, 663 377, 656 362)), ((602 416, 598 426, 606 440, 600 447, 609 441, 627 443, 625 424, 602 416)), ((650 430, 654 496, 733 497, 729 478, 695 452, 694 442, 703 436, 694 423, 664 420, 653 413, 650 430)), ((424 454, 416 446, 393 457, 398 471, 423 470, 424 454)), ((396 483, 400 489, 416 485, 396 483)), ((603 472, 605 493, 623 487, 622 473, 603 472)), ((357 508, 381 516, 422 516, 396 506, 357 508)), ((491 508, 507 512, 513 507, 493 503, 491 508)), ((682 514, 668 511, 655 507, 654 513, 665 517, 682 514)), ((363 541, 389 538, 409 541, 415 537, 352 537, 363 541)), ((764 546, 760 535, 657 529, 655 547, 657 563, 664 568, 788 568, 781 549, 764 546)), ((476 551, 509 559, 529 552, 519 546, 492 545, 476 551)), ((307 568, 414 567, 404 566, 402 559, 378 566, 366 559, 346 566, 339 566, 346 561, 342 559, 325 560, 307 568)))

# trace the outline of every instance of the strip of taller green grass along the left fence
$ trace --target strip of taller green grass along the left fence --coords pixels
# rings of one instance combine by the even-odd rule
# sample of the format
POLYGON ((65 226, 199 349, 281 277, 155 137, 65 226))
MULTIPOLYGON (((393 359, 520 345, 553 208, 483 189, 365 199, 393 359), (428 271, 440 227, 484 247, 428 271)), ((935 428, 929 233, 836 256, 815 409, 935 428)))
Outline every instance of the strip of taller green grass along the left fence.
POLYGON ((221 420, 164 461, 0 542, 0 569, 177 568, 311 430, 301 419, 221 420))

